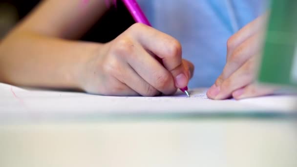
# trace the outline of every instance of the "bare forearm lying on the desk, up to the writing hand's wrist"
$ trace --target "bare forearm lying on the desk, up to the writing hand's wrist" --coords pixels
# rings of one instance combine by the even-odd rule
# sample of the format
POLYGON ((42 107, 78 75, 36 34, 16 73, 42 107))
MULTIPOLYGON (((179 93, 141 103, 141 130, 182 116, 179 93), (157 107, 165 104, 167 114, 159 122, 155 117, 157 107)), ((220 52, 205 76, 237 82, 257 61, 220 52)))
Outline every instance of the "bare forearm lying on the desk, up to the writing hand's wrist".
POLYGON ((80 89, 87 57, 99 43, 15 32, 0 44, 0 81, 22 86, 80 89))

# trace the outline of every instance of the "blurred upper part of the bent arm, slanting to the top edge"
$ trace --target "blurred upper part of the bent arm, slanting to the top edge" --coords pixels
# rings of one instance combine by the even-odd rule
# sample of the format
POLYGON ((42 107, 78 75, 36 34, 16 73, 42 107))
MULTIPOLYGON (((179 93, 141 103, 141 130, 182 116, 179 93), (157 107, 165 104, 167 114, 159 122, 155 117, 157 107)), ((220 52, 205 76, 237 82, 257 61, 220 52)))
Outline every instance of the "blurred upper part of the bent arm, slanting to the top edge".
POLYGON ((105 0, 42 0, 20 30, 50 37, 79 39, 106 12, 105 0))

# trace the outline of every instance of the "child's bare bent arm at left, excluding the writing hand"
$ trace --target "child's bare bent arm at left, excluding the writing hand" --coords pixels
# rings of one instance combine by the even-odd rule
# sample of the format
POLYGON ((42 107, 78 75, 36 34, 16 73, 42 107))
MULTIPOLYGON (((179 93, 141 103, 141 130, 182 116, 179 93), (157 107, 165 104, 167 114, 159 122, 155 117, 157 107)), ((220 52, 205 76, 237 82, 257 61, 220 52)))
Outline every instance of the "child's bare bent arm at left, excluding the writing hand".
POLYGON ((78 38, 105 11, 104 0, 44 0, 1 42, 0 81, 79 88, 80 61, 100 44, 61 38, 78 38))

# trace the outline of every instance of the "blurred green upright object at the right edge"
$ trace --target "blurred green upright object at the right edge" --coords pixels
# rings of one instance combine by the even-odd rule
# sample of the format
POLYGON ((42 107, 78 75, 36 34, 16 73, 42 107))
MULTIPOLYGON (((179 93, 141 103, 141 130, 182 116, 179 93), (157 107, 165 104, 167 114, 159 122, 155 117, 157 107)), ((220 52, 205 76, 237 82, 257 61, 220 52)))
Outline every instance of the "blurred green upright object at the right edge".
POLYGON ((273 0, 271 9, 258 81, 296 85, 291 69, 297 46, 297 0, 273 0))

